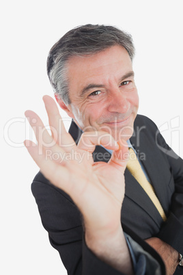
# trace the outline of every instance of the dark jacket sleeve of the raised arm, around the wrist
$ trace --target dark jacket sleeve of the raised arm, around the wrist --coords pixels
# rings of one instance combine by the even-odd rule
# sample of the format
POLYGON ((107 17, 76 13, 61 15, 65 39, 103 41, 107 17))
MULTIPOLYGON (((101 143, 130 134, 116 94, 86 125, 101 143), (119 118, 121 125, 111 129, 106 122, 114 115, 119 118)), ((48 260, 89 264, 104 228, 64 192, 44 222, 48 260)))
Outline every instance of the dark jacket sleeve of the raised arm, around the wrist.
MULTIPOLYGON (((81 213, 66 193, 51 185, 41 173, 38 173, 34 179, 31 189, 38 204, 42 224, 48 231, 51 245, 59 252, 68 275, 123 275, 107 263, 100 261, 87 248, 81 213)), ((130 239, 138 267, 135 274, 142 275, 147 263, 151 267, 150 270, 154 268, 157 274, 164 274, 160 271, 158 261, 152 260, 147 252, 143 253, 142 248, 139 249, 140 246, 134 244, 136 243, 130 239)))

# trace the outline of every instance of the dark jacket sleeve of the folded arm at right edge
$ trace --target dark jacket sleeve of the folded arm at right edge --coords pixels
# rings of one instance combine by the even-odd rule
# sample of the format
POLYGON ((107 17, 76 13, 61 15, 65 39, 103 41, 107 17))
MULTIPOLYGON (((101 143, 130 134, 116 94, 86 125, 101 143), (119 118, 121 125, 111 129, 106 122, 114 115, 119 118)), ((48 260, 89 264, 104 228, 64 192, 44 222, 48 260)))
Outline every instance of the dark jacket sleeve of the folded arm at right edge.
POLYGON ((175 248, 181 254, 183 253, 183 160, 176 155, 166 144, 160 133, 156 140, 160 150, 167 155, 174 185, 173 195, 171 197, 171 208, 169 217, 160 228, 158 237, 167 244, 175 248))

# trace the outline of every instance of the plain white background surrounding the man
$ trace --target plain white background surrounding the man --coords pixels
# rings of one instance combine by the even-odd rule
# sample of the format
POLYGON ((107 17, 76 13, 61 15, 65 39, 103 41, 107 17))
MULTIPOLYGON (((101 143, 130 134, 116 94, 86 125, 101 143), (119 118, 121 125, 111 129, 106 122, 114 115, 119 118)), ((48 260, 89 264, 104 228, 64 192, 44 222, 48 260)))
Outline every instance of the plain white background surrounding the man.
POLYGON ((179 143, 183 138, 182 1, 7 0, 0 10, 1 126, 5 127, 1 140, 1 274, 64 275, 66 270, 48 242, 31 194, 38 167, 22 146, 30 135, 26 109, 33 109, 47 122, 42 96, 53 95, 46 76, 48 51, 66 31, 86 23, 115 25, 130 32, 136 47, 139 113, 166 130, 167 142, 183 157, 179 143), (175 128, 170 129, 171 121, 175 128))

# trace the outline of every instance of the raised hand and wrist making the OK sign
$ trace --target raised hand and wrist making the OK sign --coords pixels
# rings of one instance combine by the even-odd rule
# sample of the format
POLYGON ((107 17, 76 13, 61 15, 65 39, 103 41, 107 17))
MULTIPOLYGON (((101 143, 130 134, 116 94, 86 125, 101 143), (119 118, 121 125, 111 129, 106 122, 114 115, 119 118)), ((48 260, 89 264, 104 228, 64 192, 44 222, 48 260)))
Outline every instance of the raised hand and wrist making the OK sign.
POLYGON ((128 147, 122 142, 117 144, 111 135, 103 132, 98 133, 98 138, 85 133, 76 146, 64 128, 55 101, 44 96, 44 104, 52 136, 36 113, 25 112, 38 141, 38 145, 25 141, 27 150, 44 176, 70 195, 79 207, 89 248, 117 270, 131 274, 130 255, 120 220, 128 147), (91 152, 96 144, 114 150, 109 163, 94 163, 91 152), (83 159, 82 163, 76 156, 83 159))

